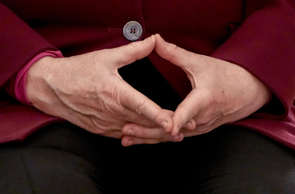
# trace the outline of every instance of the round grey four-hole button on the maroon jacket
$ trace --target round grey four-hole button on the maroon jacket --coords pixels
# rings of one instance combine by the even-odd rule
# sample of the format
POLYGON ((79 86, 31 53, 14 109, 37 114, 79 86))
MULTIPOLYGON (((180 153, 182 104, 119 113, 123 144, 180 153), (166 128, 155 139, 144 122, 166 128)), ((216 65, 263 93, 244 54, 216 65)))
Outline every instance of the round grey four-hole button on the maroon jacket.
POLYGON ((129 41, 136 41, 142 34, 142 27, 137 21, 129 21, 124 25, 123 34, 129 41))

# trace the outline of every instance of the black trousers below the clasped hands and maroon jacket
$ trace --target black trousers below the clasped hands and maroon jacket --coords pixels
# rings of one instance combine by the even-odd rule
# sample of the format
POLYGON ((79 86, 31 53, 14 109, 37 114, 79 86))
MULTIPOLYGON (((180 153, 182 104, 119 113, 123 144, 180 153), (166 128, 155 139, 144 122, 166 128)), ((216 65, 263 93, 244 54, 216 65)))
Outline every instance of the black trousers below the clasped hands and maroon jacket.
MULTIPOLYGON (((150 88, 142 92, 162 107, 174 109, 179 97, 161 79, 157 86, 137 83, 150 88)), ((55 123, 22 143, 0 146, 0 193, 294 193, 294 155, 241 127, 123 147, 119 139, 55 123)))

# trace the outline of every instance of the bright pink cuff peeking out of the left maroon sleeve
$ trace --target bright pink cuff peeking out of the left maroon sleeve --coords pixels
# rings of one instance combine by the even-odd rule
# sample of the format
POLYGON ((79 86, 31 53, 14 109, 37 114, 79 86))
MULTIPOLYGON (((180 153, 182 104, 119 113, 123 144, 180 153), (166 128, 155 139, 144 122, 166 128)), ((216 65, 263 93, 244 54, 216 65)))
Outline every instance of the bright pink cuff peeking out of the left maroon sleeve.
POLYGON ((18 74, 15 79, 14 84, 14 92, 15 96, 18 99, 18 101, 24 105, 31 105, 27 98, 26 94, 26 82, 28 77, 29 68, 39 59, 45 56, 53 56, 54 58, 62 58, 62 54, 60 51, 44 51, 35 56, 32 60, 29 61, 20 71, 18 71, 18 74))

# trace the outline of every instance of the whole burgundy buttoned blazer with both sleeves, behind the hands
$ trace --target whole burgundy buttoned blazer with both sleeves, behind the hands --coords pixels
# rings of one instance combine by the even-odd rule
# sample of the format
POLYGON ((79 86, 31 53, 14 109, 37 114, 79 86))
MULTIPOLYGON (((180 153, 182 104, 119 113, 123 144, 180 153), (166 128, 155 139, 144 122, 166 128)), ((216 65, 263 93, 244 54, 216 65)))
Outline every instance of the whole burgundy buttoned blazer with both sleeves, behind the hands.
MULTIPOLYGON (((128 21, 143 27, 139 40, 159 33, 191 52, 242 66, 273 92, 271 102, 231 125, 259 131, 295 149, 295 3, 293 0, 1 0, 0 87, 38 53, 65 57, 130 43, 128 21)), ((186 74, 152 52, 148 59, 184 98, 186 74)), ((3 88, 3 87, 2 87, 3 88)), ((60 118, 0 93, 0 143, 22 141, 60 118)))

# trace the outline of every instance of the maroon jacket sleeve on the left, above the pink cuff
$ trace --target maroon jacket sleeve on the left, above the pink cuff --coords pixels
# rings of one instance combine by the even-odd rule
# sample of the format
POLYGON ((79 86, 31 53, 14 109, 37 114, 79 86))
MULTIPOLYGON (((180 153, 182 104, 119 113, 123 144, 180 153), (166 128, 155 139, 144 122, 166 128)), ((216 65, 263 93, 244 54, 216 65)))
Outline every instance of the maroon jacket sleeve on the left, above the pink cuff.
POLYGON ((53 45, 0 3, 0 87, 35 55, 53 45))

